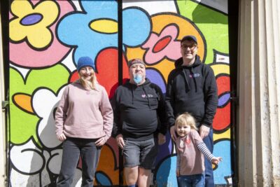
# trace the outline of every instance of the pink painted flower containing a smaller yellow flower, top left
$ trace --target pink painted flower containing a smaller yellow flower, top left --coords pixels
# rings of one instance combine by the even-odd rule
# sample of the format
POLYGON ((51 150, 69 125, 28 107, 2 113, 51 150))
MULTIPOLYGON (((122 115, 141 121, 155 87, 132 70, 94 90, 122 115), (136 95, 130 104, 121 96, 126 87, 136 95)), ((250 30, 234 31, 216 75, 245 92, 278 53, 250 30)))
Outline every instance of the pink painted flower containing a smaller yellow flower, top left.
POLYGON ((20 67, 50 67, 60 62, 70 48, 59 43, 55 27, 59 18, 73 10, 68 1, 13 1, 10 61, 20 67))

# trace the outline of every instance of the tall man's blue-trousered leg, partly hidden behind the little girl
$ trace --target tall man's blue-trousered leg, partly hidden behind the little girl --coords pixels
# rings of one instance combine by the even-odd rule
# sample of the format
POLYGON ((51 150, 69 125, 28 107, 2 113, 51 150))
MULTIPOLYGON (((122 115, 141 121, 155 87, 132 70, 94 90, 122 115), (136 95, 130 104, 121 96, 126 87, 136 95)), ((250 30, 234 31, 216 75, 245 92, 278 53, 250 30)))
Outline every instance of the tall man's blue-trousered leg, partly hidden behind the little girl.
MULTIPOLYGON (((207 137, 203 139, 204 144, 206 144, 207 148, 211 153, 213 153, 214 141, 213 141, 213 129, 210 129, 210 132, 207 137)), ((212 164, 209 160, 204 159, 205 163, 205 186, 206 187, 214 187, 214 176, 213 176, 213 168, 212 164)))

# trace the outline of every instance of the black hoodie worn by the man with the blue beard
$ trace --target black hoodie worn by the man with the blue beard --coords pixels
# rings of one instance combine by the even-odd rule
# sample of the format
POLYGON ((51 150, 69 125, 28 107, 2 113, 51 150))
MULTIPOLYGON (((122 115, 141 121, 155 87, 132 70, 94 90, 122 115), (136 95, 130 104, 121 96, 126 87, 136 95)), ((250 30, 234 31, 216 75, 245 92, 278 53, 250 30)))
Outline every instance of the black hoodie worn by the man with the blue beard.
POLYGON ((158 85, 146 78, 142 85, 127 81, 120 85, 112 100, 113 136, 146 140, 161 132, 166 134, 165 101, 158 85))

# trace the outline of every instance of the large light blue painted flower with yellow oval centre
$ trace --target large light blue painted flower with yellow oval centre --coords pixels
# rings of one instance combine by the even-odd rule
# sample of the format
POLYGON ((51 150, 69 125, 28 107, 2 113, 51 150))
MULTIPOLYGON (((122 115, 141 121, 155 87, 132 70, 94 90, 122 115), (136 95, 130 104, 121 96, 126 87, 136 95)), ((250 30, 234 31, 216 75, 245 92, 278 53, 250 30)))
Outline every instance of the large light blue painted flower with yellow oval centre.
MULTIPOLYGON (((118 4, 117 1, 80 1, 83 11, 66 15, 57 29, 59 40, 76 48, 73 59, 81 56, 96 60, 102 49, 118 47, 118 4)), ((123 10, 123 44, 139 46, 149 33, 151 22, 140 8, 123 10), (132 16, 133 15, 133 16, 132 16), (142 27, 143 26, 143 27, 142 27)))

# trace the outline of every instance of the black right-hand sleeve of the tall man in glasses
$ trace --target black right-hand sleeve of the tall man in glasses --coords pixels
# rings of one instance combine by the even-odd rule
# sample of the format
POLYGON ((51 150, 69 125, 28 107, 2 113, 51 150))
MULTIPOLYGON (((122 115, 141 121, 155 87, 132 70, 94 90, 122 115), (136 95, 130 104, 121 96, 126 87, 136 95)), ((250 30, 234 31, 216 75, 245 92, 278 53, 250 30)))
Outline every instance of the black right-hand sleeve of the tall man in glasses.
POLYGON ((204 81, 204 102, 205 102, 205 113, 202 123, 209 125, 213 123, 213 118, 216 113, 218 106, 218 88, 216 78, 213 69, 208 65, 205 66, 206 74, 204 81))

